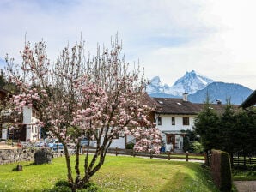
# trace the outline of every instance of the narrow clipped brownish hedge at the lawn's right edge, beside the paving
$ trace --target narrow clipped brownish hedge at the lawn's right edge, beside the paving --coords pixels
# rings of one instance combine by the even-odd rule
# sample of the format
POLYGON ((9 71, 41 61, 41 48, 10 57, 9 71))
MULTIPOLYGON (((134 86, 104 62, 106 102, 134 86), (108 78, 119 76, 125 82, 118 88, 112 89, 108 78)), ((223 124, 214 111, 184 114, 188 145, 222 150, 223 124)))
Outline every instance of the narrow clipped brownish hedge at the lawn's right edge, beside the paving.
POLYGON ((230 191, 232 188, 232 179, 229 153, 212 150, 210 168, 213 180, 220 191, 230 191))

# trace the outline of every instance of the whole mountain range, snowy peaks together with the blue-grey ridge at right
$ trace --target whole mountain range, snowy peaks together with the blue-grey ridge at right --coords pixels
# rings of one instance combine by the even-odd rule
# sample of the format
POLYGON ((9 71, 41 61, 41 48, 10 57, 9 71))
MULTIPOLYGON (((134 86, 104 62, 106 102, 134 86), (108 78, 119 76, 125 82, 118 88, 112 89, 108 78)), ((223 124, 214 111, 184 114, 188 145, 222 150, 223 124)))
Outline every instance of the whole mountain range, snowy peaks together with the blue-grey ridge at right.
POLYGON ((253 90, 240 84, 216 82, 204 75, 198 75, 194 70, 186 72, 171 87, 163 85, 160 77, 155 76, 146 90, 149 96, 160 98, 180 98, 183 93, 188 93, 188 99, 193 103, 203 103, 208 93, 211 102, 220 99, 222 103, 226 103, 226 99, 230 98, 232 104, 238 105, 253 93, 253 90))

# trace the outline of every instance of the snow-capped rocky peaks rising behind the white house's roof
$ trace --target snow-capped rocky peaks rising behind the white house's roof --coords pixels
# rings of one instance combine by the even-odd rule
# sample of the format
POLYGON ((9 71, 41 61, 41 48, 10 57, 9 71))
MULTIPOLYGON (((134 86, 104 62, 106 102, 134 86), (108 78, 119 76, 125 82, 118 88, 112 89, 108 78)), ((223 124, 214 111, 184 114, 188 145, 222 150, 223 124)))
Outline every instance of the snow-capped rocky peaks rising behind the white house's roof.
POLYGON ((186 72, 179 80, 177 80, 172 87, 167 84, 162 85, 160 78, 155 76, 147 86, 147 93, 151 94, 171 94, 173 96, 179 97, 183 93, 196 93, 198 90, 204 89, 213 80, 205 77, 204 75, 198 75, 194 70, 191 72, 186 72))

